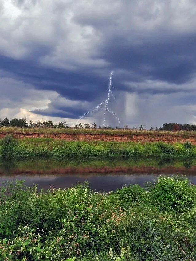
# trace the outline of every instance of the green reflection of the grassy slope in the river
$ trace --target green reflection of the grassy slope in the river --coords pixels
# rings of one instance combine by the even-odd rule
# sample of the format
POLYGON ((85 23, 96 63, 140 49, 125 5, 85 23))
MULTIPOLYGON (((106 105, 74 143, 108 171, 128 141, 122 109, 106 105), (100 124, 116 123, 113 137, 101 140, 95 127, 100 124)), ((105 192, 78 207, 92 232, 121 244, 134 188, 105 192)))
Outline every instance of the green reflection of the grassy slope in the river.
MULTIPOLYGON (((141 171, 153 171, 153 167, 155 168, 155 173, 157 169, 165 169, 168 168, 172 172, 177 171, 185 171, 185 169, 190 169, 191 166, 196 165, 196 161, 194 159, 183 159, 183 158, 63 158, 63 157, 5 157, 0 158, 0 171, 6 175, 14 174, 17 170, 17 173, 25 173, 34 172, 38 173, 42 171, 43 173, 47 171, 53 171, 53 173, 58 173, 58 169, 73 169, 72 171, 76 171, 77 168, 82 171, 84 169, 88 173, 88 169, 94 169, 92 171, 96 172, 96 169, 106 169, 107 168, 122 168, 122 171, 125 172, 126 169, 129 171, 132 168, 137 170, 139 173, 139 168, 141 171), (175 170, 176 169, 176 170, 175 170), (56 171, 56 172, 55 172, 56 171)), ((109 170, 110 172, 110 170, 109 170)), ((112 172, 112 171, 111 171, 112 172)), ((187 171, 188 172, 188 171, 187 171)))

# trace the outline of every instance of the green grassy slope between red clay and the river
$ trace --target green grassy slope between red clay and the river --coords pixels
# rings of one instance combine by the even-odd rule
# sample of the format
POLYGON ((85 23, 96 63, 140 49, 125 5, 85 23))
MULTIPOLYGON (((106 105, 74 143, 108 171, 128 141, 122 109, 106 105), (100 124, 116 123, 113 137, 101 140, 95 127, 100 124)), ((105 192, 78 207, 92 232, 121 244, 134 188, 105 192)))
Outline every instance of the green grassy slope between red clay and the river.
POLYGON ((195 157, 196 146, 189 142, 101 142, 65 141, 52 138, 0 140, 0 156, 82 156, 82 157, 195 157))

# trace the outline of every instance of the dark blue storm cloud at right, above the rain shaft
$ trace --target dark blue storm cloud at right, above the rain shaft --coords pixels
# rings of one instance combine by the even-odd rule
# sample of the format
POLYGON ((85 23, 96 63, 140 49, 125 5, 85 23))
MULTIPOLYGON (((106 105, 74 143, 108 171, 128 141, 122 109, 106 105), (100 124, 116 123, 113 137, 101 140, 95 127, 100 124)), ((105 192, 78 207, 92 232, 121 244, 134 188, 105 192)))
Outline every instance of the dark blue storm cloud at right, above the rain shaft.
POLYGON ((160 32, 153 41, 143 39, 136 45, 116 37, 106 42, 102 57, 116 68, 134 72, 129 76, 131 81, 149 79, 183 84, 196 72, 195 42, 195 33, 163 37, 160 32))

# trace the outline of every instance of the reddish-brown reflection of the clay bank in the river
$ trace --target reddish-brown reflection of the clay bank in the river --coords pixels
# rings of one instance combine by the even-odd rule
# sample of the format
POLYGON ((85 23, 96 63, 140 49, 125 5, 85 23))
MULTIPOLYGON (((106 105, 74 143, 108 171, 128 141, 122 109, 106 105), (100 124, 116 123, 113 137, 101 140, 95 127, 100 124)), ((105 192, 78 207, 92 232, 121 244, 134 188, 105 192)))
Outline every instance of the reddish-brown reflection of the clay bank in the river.
MULTIPOLYGON (((15 169, 12 171, 12 175, 18 174, 88 174, 88 173, 147 173, 147 174, 195 174, 196 166, 191 166, 189 169, 185 167, 173 167, 167 166, 163 168, 157 168, 152 166, 141 166, 141 167, 66 167, 66 168, 55 168, 55 169, 47 169, 47 170, 32 170, 32 169, 15 169)), ((0 169, 0 174, 4 174, 3 170, 0 169)))

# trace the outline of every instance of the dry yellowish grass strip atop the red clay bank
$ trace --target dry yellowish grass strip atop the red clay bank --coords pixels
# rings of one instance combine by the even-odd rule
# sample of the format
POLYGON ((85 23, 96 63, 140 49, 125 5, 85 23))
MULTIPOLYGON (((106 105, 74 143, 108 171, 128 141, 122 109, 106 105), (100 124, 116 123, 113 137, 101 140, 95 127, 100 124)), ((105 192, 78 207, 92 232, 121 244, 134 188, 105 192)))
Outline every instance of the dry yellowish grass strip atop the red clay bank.
POLYGON ((184 138, 195 137, 195 131, 161 131, 161 130, 131 130, 131 129, 93 129, 93 128, 18 128, 18 127, 0 127, 0 133, 39 133, 39 134, 58 134, 58 133, 70 133, 70 134, 111 134, 111 135, 151 135, 162 136, 172 135, 180 136, 184 138))

